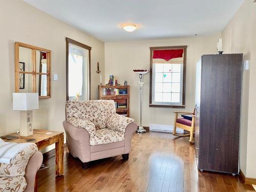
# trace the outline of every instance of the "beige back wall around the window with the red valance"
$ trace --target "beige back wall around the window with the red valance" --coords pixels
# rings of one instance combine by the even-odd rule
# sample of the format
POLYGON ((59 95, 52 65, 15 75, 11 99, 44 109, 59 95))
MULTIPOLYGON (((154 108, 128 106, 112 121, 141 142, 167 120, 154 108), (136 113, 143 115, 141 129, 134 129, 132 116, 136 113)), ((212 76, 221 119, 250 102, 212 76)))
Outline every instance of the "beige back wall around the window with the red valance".
POLYGON ((150 74, 143 81, 143 125, 173 125, 174 111, 193 111, 195 106, 196 65, 202 54, 214 54, 220 34, 206 37, 173 38, 130 42, 105 42, 105 82, 114 74, 119 83, 131 86, 131 117, 139 123, 139 76, 133 69, 150 68, 150 47, 187 45, 186 109, 149 108, 150 74))

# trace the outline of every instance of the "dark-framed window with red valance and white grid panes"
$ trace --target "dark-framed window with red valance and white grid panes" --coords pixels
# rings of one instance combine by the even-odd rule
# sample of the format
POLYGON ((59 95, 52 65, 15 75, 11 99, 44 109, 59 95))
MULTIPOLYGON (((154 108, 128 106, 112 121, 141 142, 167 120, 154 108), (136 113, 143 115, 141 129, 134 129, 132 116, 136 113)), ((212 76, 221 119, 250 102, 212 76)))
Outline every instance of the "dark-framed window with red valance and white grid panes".
POLYGON ((185 106, 186 47, 152 47, 150 106, 185 106))

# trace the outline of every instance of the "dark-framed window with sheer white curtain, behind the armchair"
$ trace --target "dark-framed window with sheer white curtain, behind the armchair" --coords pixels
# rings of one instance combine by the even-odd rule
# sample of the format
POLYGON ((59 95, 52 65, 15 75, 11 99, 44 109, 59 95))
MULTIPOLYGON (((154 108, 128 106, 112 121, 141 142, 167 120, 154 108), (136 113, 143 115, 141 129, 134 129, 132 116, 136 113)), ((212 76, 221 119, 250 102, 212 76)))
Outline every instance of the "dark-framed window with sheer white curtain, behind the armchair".
POLYGON ((67 100, 90 100, 91 47, 67 39, 67 100))

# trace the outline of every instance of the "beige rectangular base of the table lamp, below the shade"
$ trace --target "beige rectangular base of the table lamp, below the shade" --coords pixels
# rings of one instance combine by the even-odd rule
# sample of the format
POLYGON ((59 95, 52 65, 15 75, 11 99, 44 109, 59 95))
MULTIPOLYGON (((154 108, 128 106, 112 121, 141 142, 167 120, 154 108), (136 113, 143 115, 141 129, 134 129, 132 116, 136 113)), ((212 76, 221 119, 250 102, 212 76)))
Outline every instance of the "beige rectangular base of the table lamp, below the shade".
POLYGON ((20 111, 20 136, 33 135, 33 111, 20 111))

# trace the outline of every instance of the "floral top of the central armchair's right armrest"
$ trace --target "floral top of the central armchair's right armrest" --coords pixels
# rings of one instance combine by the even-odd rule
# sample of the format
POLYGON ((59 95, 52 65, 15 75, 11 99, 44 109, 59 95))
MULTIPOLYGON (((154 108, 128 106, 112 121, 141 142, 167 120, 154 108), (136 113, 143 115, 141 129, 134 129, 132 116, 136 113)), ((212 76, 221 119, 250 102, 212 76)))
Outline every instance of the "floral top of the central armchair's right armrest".
POLYGON ((134 119, 114 113, 106 121, 106 126, 111 130, 116 130, 124 133, 126 127, 132 122, 134 122, 134 119))

